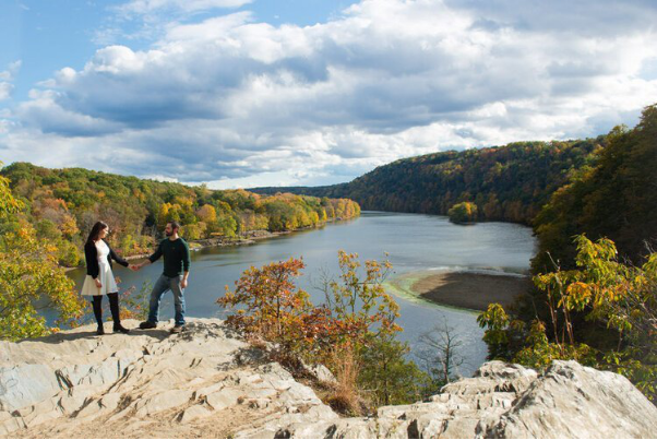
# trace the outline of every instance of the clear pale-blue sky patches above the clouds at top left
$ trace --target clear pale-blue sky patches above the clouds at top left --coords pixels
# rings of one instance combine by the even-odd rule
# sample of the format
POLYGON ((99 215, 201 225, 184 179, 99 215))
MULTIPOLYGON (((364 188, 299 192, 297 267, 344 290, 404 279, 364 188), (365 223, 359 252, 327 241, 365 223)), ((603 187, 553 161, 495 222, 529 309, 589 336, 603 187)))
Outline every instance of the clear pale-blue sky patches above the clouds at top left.
MULTIPOLYGON (((325 22, 356 1, 330 0, 261 0, 235 8, 250 10, 256 21, 272 24, 294 23, 301 26, 325 22)), ((29 90, 47 80, 62 66, 82 69, 94 52, 109 41, 99 33, 120 27, 112 44, 146 49, 151 39, 134 38, 142 26, 139 20, 117 23, 112 7, 120 0, 2 0, 0 2, 0 67, 22 60, 21 74, 15 81, 15 99, 25 99, 29 90)), ((216 12, 216 11, 215 11, 216 12)), ((200 12, 191 21, 212 16, 200 12)))

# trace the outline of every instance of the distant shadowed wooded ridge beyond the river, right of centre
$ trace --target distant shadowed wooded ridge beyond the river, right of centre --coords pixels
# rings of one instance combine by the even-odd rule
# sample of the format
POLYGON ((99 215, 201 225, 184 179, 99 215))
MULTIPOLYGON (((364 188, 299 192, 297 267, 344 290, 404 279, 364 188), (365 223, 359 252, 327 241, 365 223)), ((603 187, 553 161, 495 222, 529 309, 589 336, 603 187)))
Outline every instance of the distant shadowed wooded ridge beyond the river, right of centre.
POLYGON ((363 210, 446 215, 471 202, 479 221, 530 224, 575 170, 594 166, 606 136, 569 142, 521 142, 397 160, 350 183, 319 188, 258 188, 348 198, 363 210))

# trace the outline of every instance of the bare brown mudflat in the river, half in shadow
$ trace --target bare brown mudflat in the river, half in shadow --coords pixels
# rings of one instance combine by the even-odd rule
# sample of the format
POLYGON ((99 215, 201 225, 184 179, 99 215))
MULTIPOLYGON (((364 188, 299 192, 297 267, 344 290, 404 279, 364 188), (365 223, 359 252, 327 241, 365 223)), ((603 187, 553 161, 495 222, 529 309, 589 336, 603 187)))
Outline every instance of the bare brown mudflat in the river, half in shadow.
POLYGON ((528 276, 476 272, 421 272, 404 274, 389 286, 406 299, 485 311, 490 304, 509 307, 531 287, 528 276))

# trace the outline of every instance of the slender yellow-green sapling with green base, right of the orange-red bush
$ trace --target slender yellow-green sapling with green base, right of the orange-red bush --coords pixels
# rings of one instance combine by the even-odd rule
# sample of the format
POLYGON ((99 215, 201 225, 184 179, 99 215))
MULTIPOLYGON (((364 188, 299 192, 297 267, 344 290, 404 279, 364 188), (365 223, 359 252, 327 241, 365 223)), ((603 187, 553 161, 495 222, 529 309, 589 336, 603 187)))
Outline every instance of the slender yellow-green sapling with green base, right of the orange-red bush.
POLYGON ((407 359, 408 345, 396 338, 403 332, 396 323, 399 306, 384 287, 392 264, 361 263, 358 254, 345 251, 338 252, 338 263, 339 275, 322 283, 324 307, 336 322, 333 345, 347 353, 354 347, 361 366, 358 385, 374 406, 420 400, 428 376, 407 359))

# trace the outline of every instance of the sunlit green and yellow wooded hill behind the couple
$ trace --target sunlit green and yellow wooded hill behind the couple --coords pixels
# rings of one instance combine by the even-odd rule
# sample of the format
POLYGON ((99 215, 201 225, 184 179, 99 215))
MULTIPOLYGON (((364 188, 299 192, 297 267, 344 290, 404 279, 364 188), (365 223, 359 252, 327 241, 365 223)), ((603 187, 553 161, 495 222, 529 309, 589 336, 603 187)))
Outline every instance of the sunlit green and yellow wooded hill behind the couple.
MULTIPOLYGON (((12 164, 0 171, 26 209, 14 222, 36 229, 59 249, 60 263, 75 266, 86 235, 97 221, 109 224, 112 246, 123 255, 153 249, 166 223, 182 223, 188 240, 236 237, 251 230, 285 231, 350 218, 360 207, 350 200, 295 194, 262 197, 243 190, 142 180, 81 168, 48 169, 12 164)), ((0 229, 15 228, 3 224, 0 229)))

